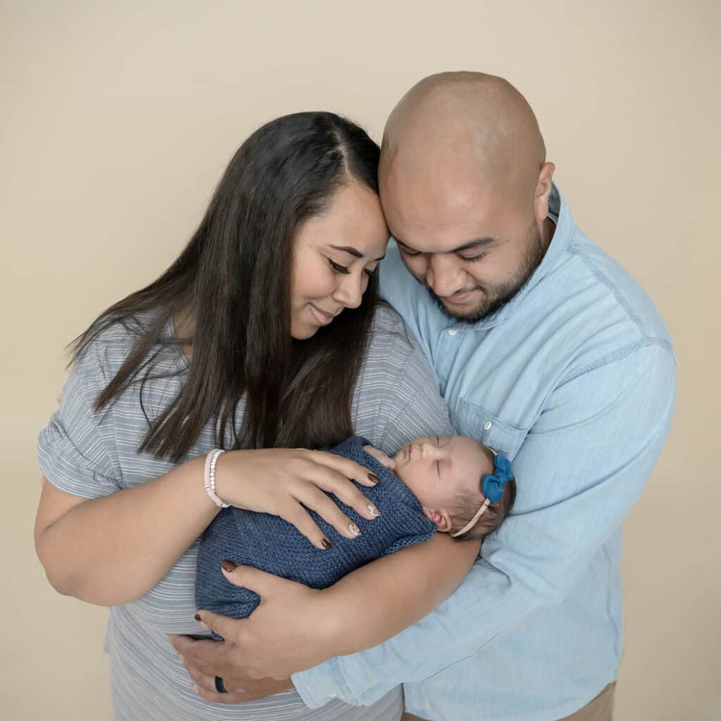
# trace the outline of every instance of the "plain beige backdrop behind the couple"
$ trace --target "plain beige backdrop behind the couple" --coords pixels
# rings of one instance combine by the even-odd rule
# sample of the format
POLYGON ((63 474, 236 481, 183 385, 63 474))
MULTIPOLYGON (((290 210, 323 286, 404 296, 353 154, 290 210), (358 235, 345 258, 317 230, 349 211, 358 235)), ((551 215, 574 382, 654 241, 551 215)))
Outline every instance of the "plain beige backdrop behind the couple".
POLYGON ((328 109, 380 138, 410 84, 467 68, 526 94, 578 224, 676 343, 676 421, 626 524, 616 720, 721 717, 718 7, 0 1, 0 715, 110 719, 107 611, 32 548, 63 345, 177 255, 257 125, 328 109))

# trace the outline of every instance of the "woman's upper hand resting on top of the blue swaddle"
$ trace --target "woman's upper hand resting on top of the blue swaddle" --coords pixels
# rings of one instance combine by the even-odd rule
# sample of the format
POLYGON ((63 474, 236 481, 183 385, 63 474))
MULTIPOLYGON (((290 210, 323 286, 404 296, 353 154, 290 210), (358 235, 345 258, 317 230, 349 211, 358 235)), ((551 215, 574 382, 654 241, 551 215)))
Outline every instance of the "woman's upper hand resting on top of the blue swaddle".
POLYGON ((380 515, 350 479, 364 486, 379 482, 355 461, 305 448, 228 451, 219 456, 216 465, 218 497, 236 508, 280 516, 319 549, 328 548, 329 541, 306 508, 318 513, 341 536, 352 539, 361 532, 325 492, 363 518, 372 520, 380 515))

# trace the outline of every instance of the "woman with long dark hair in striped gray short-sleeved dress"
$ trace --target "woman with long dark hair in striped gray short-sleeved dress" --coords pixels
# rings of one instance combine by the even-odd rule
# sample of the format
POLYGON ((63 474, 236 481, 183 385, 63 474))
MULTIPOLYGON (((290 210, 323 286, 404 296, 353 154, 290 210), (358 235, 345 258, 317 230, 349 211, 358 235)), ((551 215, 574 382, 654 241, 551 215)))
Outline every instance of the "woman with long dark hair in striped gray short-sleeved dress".
POLYGON ((231 160, 182 255, 76 339, 61 408, 40 435, 35 539, 57 590, 112 606, 117 719, 401 715, 399 690, 367 709, 310 711, 292 691, 209 704, 168 639, 202 632, 197 539, 219 499, 286 518, 322 552, 327 539, 304 506, 352 538, 322 491, 373 518, 348 479, 375 479, 302 448, 359 433, 392 453, 448 430, 432 371, 397 316, 376 308, 388 240, 378 157, 366 133, 330 113, 263 126, 231 160), (228 452, 211 493, 203 466, 213 448, 228 452))

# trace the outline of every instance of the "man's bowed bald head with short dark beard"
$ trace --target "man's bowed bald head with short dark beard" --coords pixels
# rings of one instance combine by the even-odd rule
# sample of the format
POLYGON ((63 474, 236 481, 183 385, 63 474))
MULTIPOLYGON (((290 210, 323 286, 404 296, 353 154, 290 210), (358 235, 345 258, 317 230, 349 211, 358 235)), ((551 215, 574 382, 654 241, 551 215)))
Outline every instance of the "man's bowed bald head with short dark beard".
POLYGON ((482 73, 423 79, 393 110, 379 187, 405 264, 453 317, 500 309, 534 273, 553 235, 554 167, 533 110, 482 73))

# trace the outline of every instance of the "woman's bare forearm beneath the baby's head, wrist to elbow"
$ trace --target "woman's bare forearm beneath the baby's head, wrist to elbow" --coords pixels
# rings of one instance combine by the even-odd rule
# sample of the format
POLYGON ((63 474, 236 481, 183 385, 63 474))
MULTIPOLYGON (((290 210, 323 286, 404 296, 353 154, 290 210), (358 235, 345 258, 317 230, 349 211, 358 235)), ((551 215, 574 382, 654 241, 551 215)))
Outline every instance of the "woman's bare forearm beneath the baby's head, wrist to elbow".
POLYGON ((479 541, 430 541, 377 559, 327 589, 332 655, 382 643, 420 621, 444 601, 469 572, 479 541))

